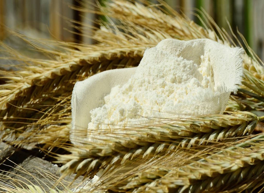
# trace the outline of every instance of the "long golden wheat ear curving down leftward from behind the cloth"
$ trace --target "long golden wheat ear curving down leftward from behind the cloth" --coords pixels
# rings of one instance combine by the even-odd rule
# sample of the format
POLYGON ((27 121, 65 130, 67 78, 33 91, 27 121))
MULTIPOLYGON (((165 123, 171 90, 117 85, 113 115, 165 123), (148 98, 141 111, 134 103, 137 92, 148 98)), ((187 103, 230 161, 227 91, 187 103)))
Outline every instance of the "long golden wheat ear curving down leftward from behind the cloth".
MULTIPOLYGON (((74 57, 74 59, 66 61, 45 61, 47 67, 46 69, 39 69, 41 71, 39 73, 34 73, 32 71, 22 71, 16 72, 16 75, 13 76, 3 76, 1 78, 13 80, 12 83, 9 83, 10 81, 7 81, 7 84, 0 85, 0 97, 2 99, 0 103, 1 109, 7 109, 7 102, 19 100, 19 96, 27 96, 27 94, 29 93, 40 94, 41 90, 52 93, 52 91, 59 86, 58 83, 65 83, 64 81, 62 81, 63 79, 73 84, 69 80, 76 80, 76 78, 83 79, 88 76, 91 76, 92 74, 97 73, 98 71, 104 71, 106 69, 115 68, 115 65, 118 65, 120 62, 125 64, 124 67, 128 65, 137 65, 139 62, 138 60, 129 61, 129 59, 136 59, 137 57, 139 57, 140 59, 143 55, 145 48, 146 47, 142 46, 133 47, 131 45, 127 48, 118 47, 115 49, 114 47, 110 47, 108 50, 104 51, 101 50, 100 46, 98 46, 96 51, 82 53, 83 55, 85 55, 83 57, 74 57), (125 58, 127 58, 127 60, 124 60, 125 58), (115 62, 117 63, 115 64, 115 62), (54 66, 54 63, 56 64, 56 67, 52 68, 54 66), (16 79, 16 77, 21 76, 22 79, 16 79), (33 86, 36 86, 37 88, 32 88, 33 86), (34 92, 34 90, 32 89, 37 89, 37 91, 34 92)), ((4 73, 5 72, 2 71, 1 74, 4 73)), ((30 95, 28 98, 31 99, 32 95, 30 95)), ((2 113, 1 115, 4 114, 2 113)))

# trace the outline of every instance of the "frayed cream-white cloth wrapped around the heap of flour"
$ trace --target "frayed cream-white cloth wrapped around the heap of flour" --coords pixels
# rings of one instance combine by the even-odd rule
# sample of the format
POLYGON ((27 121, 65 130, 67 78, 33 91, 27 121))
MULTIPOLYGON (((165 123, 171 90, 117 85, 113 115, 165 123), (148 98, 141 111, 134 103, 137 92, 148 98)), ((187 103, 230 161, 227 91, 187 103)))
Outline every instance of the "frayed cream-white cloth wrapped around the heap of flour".
MULTIPOLYGON (((198 104, 213 107, 216 113, 225 109, 230 93, 236 93, 237 85, 242 81, 243 67, 240 55, 243 49, 230 48, 209 39, 190 41, 165 39, 156 47, 178 57, 193 60, 196 64, 199 64, 201 55, 205 52, 209 53, 210 62, 213 64, 214 82, 225 87, 220 87, 222 90, 219 91, 219 95, 206 96, 198 104)), ((90 110, 98 107, 102 97, 109 94, 113 86, 126 83, 135 70, 136 67, 107 70, 75 84, 72 93, 70 132, 70 140, 73 144, 81 145, 82 141, 85 141, 88 123, 91 121, 90 110)))

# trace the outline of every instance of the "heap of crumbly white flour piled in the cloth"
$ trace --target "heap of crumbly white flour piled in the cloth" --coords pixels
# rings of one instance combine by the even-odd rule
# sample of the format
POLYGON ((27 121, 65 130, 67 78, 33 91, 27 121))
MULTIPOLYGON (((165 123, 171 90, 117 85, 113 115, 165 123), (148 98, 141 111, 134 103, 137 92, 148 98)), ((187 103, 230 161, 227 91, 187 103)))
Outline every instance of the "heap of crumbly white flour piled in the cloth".
POLYGON ((213 69, 208 53, 200 63, 177 57, 152 47, 147 49, 127 83, 117 85, 90 111, 92 129, 124 127, 146 117, 186 117, 186 114, 211 114, 197 98, 214 96, 213 69))

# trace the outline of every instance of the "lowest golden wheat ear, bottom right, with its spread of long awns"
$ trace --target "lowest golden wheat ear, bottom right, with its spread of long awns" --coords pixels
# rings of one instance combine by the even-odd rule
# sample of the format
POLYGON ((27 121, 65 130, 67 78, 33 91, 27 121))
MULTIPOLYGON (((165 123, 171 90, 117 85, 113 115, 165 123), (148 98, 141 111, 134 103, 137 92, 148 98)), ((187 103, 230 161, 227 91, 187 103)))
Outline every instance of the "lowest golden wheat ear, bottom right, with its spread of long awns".
POLYGON ((117 165, 104 173, 101 182, 106 190, 124 192, 232 191, 234 185, 237 190, 254 189, 251 184, 263 184, 253 177, 263 172, 262 147, 263 135, 203 150, 178 148, 169 156, 144 160, 142 164, 139 160, 138 165, 117 165))

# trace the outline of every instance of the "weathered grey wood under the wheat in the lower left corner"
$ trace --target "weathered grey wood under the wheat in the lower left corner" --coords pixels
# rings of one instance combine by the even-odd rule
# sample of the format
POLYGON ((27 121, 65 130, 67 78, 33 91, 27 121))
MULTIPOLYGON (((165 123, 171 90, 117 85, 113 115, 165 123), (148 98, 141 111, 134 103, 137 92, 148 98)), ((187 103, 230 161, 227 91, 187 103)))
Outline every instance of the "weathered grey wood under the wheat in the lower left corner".
MULTIPOLYGON (((42 158, 34 156, 36 152, 25 149, 16 149, 6 143, 0 143, 0 180, 10 186, 26 187, 26 184, 34 184, 43 187, 45 191, 53 187, 60 174, 57 173, 59 167, 42 158)), ((72 181, 74 175, 68 176, 62 181, 66 186, 72 181)), ((81 177, 77 178, 75 184, 81 182, 81 177)), ((62 184, 56 186, 63 190, 62 184)), ((54 188, 54 187, 53 187, 54 188)), ((0 186, 0 191, 1 186, 0 186)))

